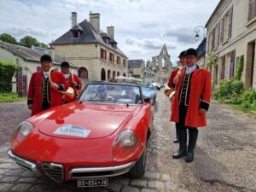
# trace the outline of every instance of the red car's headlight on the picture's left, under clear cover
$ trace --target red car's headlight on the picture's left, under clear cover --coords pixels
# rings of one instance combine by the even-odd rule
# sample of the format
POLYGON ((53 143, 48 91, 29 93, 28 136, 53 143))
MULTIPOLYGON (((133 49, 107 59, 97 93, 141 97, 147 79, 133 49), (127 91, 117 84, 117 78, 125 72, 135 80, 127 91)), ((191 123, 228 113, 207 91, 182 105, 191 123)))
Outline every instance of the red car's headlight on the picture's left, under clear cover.
POLYGON ((11 148, 14 149, 17 147, 32 131, 34 125, 28 121, 23 121, 20 125, 17 126, 14 137, 12 138, 11 148))

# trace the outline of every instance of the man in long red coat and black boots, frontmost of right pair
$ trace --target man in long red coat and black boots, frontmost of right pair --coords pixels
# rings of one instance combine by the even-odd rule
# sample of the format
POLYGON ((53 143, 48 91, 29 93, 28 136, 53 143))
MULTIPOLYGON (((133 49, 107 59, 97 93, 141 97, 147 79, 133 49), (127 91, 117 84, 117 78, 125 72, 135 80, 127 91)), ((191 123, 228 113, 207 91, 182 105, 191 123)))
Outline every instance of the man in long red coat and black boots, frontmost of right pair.
POLYGON ((198 127, 206 126, 206 113, 212 94, 211 73, 196 65, 197 52, 187 49, 186 67, 182 69, 175 90, 171 121, 176 122, 179 134, 179 150, 173 159, 186 156, 185 160, 194 160, 194 148, 198 136, 198 127), (187 148, 187 130, 189 146, 187 148))

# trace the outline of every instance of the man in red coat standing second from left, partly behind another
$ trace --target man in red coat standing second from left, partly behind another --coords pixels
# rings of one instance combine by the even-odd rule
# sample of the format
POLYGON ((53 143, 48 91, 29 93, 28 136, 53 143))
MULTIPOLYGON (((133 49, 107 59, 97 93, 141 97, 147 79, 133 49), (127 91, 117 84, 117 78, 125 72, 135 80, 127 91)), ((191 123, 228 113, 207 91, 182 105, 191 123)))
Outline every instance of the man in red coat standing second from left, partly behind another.
POLYGON ((66 103, 67 102, 73 102, 77 99, 79 90, 82 89, 82 84, 81 84, 81 81, 79 79, 79 76, 77 76, 74 73, 70 73, 70 65, 67 61, 61 62, 61 73, 64 74, 65 78, 67 79, 67 82, 68 82, 69 86, 72 87, 73 90, 74 90, 73 99, 70 100, 70 99, 65 97, 64 102, 66 102, 66 103))

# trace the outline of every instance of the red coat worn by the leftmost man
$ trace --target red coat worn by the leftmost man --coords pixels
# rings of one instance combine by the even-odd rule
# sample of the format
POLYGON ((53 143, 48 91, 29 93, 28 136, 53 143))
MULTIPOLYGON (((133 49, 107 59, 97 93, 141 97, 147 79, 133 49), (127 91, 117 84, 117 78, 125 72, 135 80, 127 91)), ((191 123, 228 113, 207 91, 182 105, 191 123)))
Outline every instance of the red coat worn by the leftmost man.
MULTIPOLYGON (((55 84, 61 84, 63 90, 67 90, 68 83, 64 75, 60 72, 53 72, 50 74, 52 81, 55 84)), ((49 84, 50 85, 50 84, 49 84)), ((29 83, 27 101, 33 104, 32 115, 43 111, 43 89, 44 89, 44 77, 42 72, 32 73, 32 78, 29 83)), ((56 90, 49 89, 50 92, 50 108, 61 105, 63 103, 62 94, 56 90)))

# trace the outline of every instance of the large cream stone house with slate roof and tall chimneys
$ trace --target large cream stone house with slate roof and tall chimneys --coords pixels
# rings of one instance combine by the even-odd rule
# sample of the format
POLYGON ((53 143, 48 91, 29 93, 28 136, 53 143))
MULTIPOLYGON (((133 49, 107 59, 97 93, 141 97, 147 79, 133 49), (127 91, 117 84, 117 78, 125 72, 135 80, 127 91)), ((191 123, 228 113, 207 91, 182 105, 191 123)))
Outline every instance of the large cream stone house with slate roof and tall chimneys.
POLYGON ((72 13, 71 29, 51 45, 61 55, 79 67, 83 83, 92 80, 111 80, 127 75, 127 57, 117 46, 114 27, 107 33, 100 28, 100 14, 90 13, 90 20, 77 24, 77 13, 72 13))

